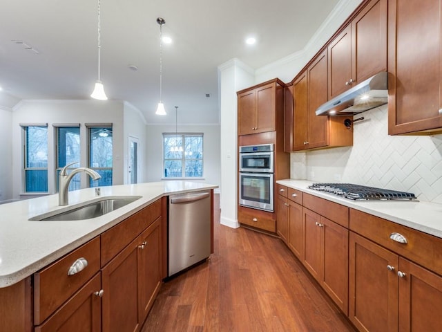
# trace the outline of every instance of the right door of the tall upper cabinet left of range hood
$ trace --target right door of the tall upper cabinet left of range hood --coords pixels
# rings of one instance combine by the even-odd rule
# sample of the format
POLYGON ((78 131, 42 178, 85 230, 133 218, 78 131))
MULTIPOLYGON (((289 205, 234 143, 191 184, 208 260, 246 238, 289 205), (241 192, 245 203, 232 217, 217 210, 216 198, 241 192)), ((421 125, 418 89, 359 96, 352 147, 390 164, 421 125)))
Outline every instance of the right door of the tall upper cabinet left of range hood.
POLYGON ((328 116, 316 116, 316 109, 327 102, 327 50, 318 55, 308 68, 309 82, 309 120, 307 147, 328 145, 328 116))

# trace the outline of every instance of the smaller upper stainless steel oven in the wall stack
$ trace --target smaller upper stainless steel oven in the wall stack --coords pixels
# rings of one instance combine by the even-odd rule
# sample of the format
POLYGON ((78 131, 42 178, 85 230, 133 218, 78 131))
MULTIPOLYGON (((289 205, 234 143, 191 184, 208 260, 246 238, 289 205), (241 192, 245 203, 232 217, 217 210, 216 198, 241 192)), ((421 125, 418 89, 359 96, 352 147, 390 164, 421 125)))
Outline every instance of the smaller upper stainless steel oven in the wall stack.
POLYGON ((240 172, 273 173, 273 144, 240 147, 240 172))

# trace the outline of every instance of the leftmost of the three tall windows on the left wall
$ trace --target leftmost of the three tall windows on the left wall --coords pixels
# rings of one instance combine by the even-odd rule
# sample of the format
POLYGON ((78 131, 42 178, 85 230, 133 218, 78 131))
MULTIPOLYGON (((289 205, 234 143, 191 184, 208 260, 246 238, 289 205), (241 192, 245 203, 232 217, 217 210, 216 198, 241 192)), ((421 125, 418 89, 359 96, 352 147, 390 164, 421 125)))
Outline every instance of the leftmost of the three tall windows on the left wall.
POLYGON ((48 127, 22 127, 24 191, 48 192, 48 127))

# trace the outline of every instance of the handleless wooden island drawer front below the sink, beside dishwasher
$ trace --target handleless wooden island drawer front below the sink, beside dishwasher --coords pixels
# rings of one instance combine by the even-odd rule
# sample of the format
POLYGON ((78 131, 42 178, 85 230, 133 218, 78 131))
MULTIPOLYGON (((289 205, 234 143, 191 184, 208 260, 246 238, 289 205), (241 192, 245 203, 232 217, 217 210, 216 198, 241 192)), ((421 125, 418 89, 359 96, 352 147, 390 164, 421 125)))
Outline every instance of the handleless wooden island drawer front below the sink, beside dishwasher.
POLYGON ((106 230, 102 237, 102 267, 161 215, 161 199, 106 230))

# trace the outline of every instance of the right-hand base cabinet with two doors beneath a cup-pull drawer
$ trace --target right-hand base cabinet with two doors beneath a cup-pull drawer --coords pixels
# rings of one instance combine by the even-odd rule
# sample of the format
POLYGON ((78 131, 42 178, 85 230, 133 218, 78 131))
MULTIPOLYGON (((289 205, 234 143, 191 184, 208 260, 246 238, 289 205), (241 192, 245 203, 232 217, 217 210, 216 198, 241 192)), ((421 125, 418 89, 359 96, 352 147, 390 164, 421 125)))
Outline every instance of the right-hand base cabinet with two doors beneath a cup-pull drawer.
POLYGON ((356 210, 350 210, 349 226, 349 318, 355 326, 361 331, 437 331, 442 324, 442 277, 436 274, 441 273, 442 240, 356 210), (392 240, 391 234, 406 243, 392 240))

